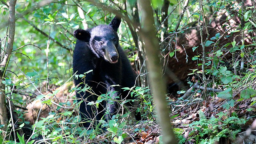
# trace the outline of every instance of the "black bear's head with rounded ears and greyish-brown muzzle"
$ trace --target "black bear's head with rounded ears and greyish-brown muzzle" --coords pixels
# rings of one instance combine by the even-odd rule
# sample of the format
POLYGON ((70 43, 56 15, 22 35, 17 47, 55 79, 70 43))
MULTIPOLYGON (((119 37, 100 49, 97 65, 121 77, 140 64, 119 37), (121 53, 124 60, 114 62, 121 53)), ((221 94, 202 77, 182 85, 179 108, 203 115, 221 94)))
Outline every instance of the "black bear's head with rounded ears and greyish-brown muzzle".
POLYGON ((116 63, 119 45, 116 32, 120 23, 121 19, 115 17, 109 25, 99 25, 90 30, 77 29, 74 31, 74 36, 80 41, 90 43, 90 49, 98 58, 116 63))

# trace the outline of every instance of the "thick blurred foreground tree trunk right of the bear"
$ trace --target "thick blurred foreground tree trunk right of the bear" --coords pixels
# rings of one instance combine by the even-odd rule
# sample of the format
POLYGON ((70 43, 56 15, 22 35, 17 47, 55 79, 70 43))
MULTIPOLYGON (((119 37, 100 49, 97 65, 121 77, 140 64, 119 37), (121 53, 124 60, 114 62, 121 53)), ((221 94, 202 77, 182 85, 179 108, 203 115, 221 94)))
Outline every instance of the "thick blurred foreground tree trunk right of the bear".
POLYGON ((172 131, 171 119, 169 117, 169 109, 165 99, 166 84, 161 75, 160 46, 156 38, 156 28, 153 17, 153 11, 150 6, 150 0, 138 1, 143 24, 141 29, 141 36, 145 43, 146 55, 148 57, 148 71, 149 71, 149 84, 154 93, 154 101, 156 103, 157 119, 161 126, 163 140, 165 144, 176 144, 174 133, 172 131))

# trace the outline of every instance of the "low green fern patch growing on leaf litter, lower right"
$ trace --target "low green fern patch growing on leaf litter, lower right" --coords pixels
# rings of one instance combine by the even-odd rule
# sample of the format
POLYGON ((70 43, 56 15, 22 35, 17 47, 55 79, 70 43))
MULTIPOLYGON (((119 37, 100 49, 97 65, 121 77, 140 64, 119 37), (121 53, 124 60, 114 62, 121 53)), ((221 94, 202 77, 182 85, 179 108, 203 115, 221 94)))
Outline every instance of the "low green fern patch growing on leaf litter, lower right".
POLYGON ((195 140, 196 143, 214 143, 220 138, 230 140, 236 139, 236 134, 241 131, 241 126, 246 123, 244 118, 238 118, 236 113, 231 116, 220 112, 216 117, 207 119, 204 112, 199 111, 199 121, 192 122, 189 127, 189 139, 195 140))

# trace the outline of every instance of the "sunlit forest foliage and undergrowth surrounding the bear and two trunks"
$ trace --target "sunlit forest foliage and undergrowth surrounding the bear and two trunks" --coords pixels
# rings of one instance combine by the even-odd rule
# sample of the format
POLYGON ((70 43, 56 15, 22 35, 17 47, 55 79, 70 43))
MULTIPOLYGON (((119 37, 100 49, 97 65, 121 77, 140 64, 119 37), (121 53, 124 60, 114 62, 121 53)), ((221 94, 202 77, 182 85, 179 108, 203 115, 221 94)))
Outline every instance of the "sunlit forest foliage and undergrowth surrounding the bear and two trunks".
MULTIPOLYGON (((23 130, 16 131, 20 144, 162 143, 149 94, 140 4, 135 0, 17 1, 13 50, 2 84, 7 109, 8 100, 17 108, 12 112, 19 116, 15 129, 23 130), (79 126, 75 92, 90 88, 73 86, 73 77, 86 77, 73 75, 73 31, 108 24, 116 14, 123 18, 118 29, 120 45, 139 75, 137 87, 124 89, 140 100, 135 111, 142 113, 143 121, 133 121, 130 112, 120 113, 101 122, 106 132, 98 127, 84 129, 79 126)), ((162 75, 168 83, 166 100, 179 143, 255 142, 255 135, 243 138, 256 111, 255 1, 152 0, 151 5, 162 75)), ((0 15, 3 52, 8 41, 9 1, 1 0, 0 15)), ((110 94, 100 95, 91 104, 99 105, 110 94)), ((12 118, 8 118, 9 134, 0 141, 15 143, 10 133, 12 118)))

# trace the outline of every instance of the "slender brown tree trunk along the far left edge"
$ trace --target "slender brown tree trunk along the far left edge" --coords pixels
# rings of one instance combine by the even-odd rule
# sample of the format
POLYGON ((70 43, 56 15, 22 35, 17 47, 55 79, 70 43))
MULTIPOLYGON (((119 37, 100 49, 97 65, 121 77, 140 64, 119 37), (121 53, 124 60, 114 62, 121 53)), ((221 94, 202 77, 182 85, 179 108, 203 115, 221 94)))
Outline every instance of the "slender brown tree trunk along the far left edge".
MULTIPOLYGON (((2 83, 5 77, 5 71, 9 63, 9 59, 12 53, 12 46, 14 41, 14 33, 15 33, 15 4, 16 0, 11 0, 9 6, 9 34, 8 34, 8 44, 7 48, 4 52, 4 59, 0 64, 0 120, 1 124, 4 124, 3 130, 6 131, 8 118, 7 118, 7 111, 6 111, 6 98, 5 98, 5 86, 2 83)), ((5 134, 5 133, 3 133, 5 134)))

